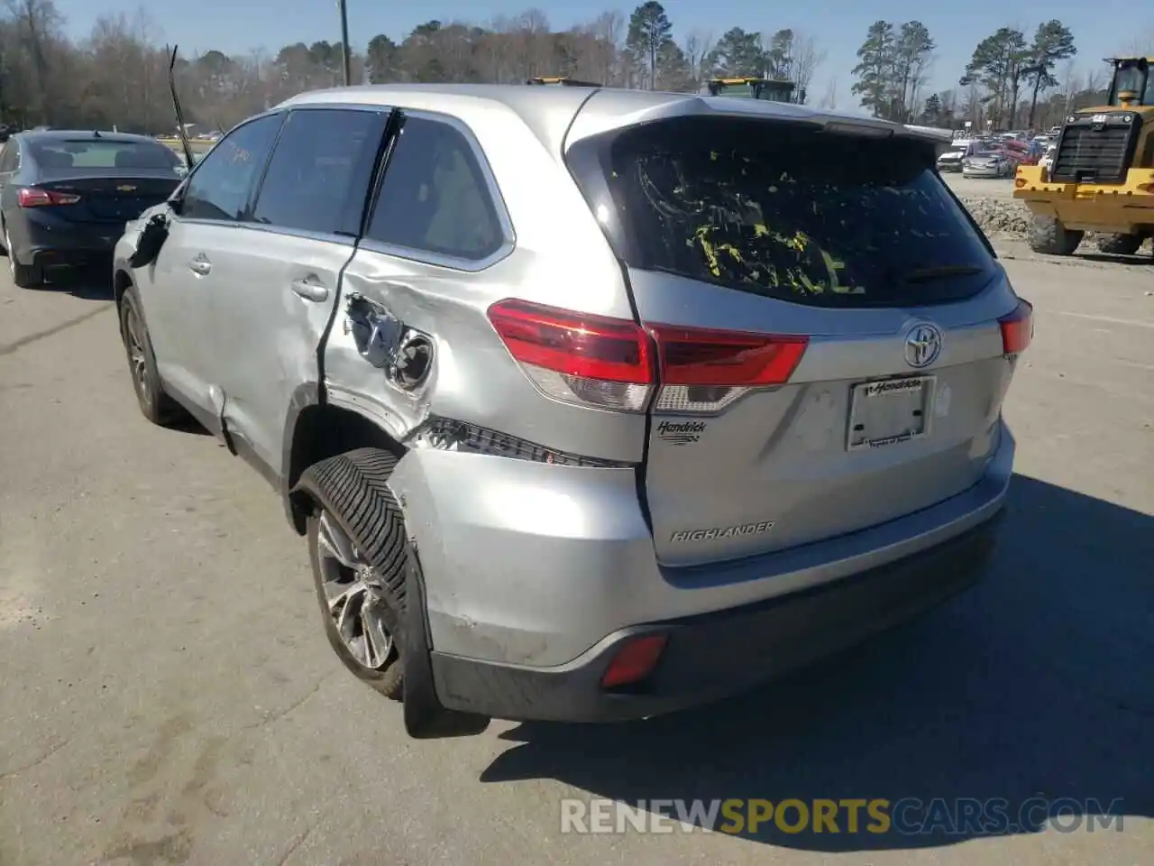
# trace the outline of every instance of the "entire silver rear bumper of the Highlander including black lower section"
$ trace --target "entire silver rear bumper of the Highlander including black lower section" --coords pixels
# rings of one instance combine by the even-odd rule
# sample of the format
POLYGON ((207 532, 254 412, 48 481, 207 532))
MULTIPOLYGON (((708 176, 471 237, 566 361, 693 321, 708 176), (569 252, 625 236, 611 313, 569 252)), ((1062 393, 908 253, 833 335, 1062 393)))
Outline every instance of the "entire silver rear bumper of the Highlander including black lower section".
POLYGON ((437 699, 496 718, 614 721, 741 692, 901 622, 979 580, 1013 469, 824 542, 661 567, 630 470, 421 449, 389 485, 420 555, 437 699), (606 694, 620 647, 669 644, 643 693, 606 694))

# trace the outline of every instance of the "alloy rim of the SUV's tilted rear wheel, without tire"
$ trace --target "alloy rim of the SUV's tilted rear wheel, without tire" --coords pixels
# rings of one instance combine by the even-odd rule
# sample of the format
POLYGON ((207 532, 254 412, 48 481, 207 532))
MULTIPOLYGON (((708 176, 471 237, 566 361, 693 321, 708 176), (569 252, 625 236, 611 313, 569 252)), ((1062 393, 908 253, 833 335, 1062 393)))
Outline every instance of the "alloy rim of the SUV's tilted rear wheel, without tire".
POLYGON ((329 617, 342 643, 362 667, 384 669, 394 641, 383 615, 381 581, 328 512, 319 521, 317 553, 329 617))

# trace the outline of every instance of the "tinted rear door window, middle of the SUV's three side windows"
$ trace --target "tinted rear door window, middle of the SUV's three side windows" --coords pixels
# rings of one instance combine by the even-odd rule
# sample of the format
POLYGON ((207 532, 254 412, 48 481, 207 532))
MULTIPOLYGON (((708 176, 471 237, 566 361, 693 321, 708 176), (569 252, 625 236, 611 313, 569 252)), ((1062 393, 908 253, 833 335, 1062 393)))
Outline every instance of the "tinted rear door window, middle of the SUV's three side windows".
POLYGON ((298 109, 261 184, 253 219, 299 231, 355 234, 385 114, 298 109))

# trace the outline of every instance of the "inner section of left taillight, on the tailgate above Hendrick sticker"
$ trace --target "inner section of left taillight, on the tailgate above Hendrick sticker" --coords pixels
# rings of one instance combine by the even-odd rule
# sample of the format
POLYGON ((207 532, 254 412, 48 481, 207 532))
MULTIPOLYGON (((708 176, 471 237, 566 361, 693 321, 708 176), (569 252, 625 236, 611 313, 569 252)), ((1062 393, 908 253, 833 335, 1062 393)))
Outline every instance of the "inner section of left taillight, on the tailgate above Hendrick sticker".
POLYGON ((659 412, 717 412, 750 388, 785 385, 808 337, 651 324, 661 389, 659 412))

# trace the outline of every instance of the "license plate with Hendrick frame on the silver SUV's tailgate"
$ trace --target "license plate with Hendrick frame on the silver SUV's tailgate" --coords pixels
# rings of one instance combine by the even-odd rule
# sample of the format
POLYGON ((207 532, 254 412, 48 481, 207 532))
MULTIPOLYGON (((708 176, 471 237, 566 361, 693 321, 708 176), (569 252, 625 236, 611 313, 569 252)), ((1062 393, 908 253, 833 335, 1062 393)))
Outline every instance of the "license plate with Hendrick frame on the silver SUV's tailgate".
POLYGON ((878 379, 853 386, 846 450, 883 448, 929 433, 934 376, 878 379))

